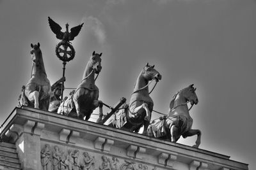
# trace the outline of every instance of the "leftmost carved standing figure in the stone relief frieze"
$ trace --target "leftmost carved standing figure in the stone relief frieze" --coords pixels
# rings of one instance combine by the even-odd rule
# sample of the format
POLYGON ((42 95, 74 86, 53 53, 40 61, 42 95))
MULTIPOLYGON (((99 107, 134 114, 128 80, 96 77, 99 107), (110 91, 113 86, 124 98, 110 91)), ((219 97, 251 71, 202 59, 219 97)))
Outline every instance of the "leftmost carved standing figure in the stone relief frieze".
POLYGON ((43 170, 52 170, 50 145, 45 144, 45 147, 41 150, 41 164, 43 170))

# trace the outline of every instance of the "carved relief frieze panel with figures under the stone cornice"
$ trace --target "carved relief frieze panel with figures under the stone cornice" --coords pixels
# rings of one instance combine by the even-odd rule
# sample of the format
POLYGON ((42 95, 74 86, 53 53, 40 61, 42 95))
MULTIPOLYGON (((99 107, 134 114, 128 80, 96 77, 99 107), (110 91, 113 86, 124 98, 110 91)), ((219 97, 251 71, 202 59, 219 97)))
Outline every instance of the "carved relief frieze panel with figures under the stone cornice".
POLYGON ((156 166, 141 164, 100 153, 78 150, 67 146, 42 143, 42 170, 160 170, 156 166))

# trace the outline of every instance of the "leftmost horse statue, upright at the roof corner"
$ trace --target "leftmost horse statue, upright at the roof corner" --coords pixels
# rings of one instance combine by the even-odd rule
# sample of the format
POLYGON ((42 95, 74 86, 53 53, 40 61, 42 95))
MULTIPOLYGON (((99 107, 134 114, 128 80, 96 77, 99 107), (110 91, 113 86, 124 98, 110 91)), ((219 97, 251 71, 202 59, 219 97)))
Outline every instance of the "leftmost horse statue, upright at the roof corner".
POLYGON ((31 58, 33 67, 31 78, 22 90, 19 105, 48 110, 51 96, 51 84, 45 73, 44 61, 40 50, 40 43, 31 44, 31 58))

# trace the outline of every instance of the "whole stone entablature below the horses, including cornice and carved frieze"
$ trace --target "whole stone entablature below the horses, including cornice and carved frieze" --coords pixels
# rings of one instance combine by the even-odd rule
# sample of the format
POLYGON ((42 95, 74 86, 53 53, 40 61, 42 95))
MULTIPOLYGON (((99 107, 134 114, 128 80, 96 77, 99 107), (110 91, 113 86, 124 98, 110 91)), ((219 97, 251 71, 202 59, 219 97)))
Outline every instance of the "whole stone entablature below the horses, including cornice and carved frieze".
POLYGON ((218 153, 34 108, 15 108, 7 122, 1 134, 24 169, 248 169, 218 153))

